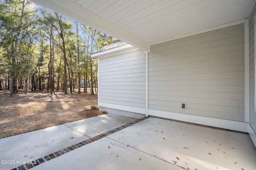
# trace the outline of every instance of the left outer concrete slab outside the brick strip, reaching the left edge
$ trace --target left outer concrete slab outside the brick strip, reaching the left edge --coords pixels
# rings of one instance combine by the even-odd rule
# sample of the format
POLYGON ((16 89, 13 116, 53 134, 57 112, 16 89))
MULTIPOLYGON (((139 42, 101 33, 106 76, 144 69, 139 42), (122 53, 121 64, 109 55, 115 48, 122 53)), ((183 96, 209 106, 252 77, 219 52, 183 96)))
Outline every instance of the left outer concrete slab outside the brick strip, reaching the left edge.
POLYGON ((16 161, 35 160, 74 145, 89 137, 64 125, 57 125, 0 139, 0 160, 14 160, 15 164, 0 164, 1 170, 20 166, 16 161))

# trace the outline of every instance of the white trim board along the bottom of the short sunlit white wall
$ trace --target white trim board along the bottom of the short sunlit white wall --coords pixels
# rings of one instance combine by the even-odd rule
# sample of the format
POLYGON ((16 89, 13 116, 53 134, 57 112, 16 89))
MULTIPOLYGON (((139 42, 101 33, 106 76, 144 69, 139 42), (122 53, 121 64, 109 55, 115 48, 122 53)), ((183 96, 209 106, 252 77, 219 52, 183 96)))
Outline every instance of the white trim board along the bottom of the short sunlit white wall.
POLYGON ((104 102, 98 102, 99 107, 108 107, 110 109, 117 109, 117 110, 123 110, 123 111, 129 111, 133 113, 140 113, 146 115, 146 109, 141 107, 132 107, 132 106, 124 106, 119 104, 110 104, 110 103, 104 103, 104 102))

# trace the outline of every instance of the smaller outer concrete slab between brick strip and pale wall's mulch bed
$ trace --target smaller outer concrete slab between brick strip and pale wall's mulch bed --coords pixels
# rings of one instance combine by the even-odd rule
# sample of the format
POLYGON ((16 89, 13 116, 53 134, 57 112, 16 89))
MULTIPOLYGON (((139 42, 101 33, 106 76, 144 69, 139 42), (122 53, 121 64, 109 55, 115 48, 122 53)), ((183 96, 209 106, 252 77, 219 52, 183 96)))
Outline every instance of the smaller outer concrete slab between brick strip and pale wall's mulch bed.
POLYGON ((136 119, 130 117, 105 114, 91 117, 90 119, 82 119, 79 121, 65 123, 64 125, 88 137, 95 137, 135 120, 136 119))

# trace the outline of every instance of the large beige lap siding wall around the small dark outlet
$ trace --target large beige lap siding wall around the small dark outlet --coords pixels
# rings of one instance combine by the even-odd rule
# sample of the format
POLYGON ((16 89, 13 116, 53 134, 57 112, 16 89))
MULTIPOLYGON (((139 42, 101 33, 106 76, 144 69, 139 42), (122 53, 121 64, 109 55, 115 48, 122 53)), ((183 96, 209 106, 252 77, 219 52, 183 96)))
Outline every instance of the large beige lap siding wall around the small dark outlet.
POLYGON ((149 109, 244 121, 244 24, 153 45, 148 62, 149 109))

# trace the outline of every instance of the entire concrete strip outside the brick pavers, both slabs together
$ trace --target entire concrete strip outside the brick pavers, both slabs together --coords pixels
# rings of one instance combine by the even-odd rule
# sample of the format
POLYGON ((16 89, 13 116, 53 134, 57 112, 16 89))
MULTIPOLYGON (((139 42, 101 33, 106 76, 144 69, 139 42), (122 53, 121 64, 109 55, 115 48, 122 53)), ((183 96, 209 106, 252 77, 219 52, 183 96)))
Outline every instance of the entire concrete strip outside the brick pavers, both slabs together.
POLYGON ((16 168, 135 120, 105 114, 0 139, 0 160, 12 161, 0 164, 0 169, 16 168))

